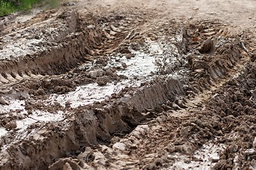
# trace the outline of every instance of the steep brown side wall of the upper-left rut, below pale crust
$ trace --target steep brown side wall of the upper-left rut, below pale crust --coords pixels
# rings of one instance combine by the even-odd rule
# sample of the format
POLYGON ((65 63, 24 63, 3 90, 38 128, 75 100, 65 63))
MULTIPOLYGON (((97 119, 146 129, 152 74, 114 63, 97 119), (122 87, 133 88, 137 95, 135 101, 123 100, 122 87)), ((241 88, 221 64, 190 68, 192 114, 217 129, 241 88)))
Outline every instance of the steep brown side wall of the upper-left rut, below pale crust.
POLYGON ((38 42, 39 46, 47 47, 47 50, 2 61, 1 84, 20 81, 38 74, 68 72, 88 60, 87 57, 90 56, 91 50, 95 49, 95 45, 102 43, 103 35, 99 29, 80 28, 81 21, 77 11, 64 11, 57 18, 65 20, 64 25, 68 25, 68 28, 65 28, 63 33, 58 31, 58 35, 53 36, 55 42, 38 42))

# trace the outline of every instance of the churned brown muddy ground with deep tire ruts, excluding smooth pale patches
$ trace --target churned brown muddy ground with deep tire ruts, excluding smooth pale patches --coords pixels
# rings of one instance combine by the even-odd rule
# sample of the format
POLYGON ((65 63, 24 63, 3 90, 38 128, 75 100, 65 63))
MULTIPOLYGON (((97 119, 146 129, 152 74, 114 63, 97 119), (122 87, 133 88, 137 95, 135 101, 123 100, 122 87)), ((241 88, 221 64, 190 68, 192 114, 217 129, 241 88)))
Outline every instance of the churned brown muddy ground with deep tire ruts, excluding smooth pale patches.
MULTIPOLYGON (((65 11, 55 19, 66 21, 70 16, 75 16, 75 27, 67 28, 70 32, 65 30, 63 35, 57 29, 60 47, 49 47, 52 53, 32 55, 31 70, 6 62, 2 96, 19 98, 24 112, 11 110, 1 115, 1 126, 9 130, 1 136, 1 169, 182 169, 181 162, 192 169, 200 169, 200 162, 212 164, 214 169, 254 166, 251 139, 255 135, 243 134, 253 130, 250 118, 255 113, 254 38, 250 32, 233 35, 215 20, 185 26, 180 19, 160 16, 148 21, 146 17, 154 15, 139 11, 104 16, 65 11), (146 54, 148 60, 154 56, 156 71, 146 77, 123 76, 132 64, 122 61, 139 60, 138 53, 146 54), (23 79, 23 73, 18 77, 15 69, 30 78, 23 79), (67 94, 78 86, 105 85, 103 78, 107 84, 143 81, 90 105, 46 102, 50 95, 67 94), (225 96, 227 93, 233 97, 225 96), (21 130, 15 126, 35 111, 61 112, 63 117, 35 120, 21 130), (239 124, 241 121, 244 123, 239 124), (240 128, 233 131, 235 125, 240 128), (220 157, 209 156, 210 163, 194 155, 209 143, 225 145, 220 157)), ((56 39, 49 38, 46 36, 48 41, 56 39)), ((27 57, 31 62, 31 56, 27 57)), ((21 59, 16 63, 22 63, 21 59)), ((7 107, 9 103, 1 104, 7 107)))

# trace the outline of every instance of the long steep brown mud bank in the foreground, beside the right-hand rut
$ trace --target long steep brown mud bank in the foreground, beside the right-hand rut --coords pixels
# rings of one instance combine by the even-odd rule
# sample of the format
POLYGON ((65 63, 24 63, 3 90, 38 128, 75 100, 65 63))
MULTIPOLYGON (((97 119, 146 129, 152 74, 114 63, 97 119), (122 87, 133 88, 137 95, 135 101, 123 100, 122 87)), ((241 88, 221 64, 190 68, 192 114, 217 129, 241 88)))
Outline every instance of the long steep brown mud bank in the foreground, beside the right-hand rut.
MULTIPOLYGON (((168 99, 175 98, 174 95, 182 93, 181 84, 178 81, 169 80, 162 82, 162 84, 162 86, 155 84, 145 90, 137 91, 132 97, 126 96, 120 98, 119 96, 126 94, 126 89, 119 95, 114 96, 114 98, 110 98, 109 101, 92 106, 75 108, 72 111, 72 115, 68 113, 66 115, 67 117, 65 116, 58 123, 34 123, 33 125, 29 125, 26 129, 28 134, 21 141, 14 140, 12 137, 3 137, 4 145, 15 145, 16 151, 13 151, 12 147, 2 149, 2 158, 4 159, 4 157, 11 157, 13 155, 16 157, 16 160, 15 162, 4 162, 2 168, 31 169, 41 167, 42 169, 46 169, 47 164, 53 162, 54 159, 68 156, 66 155, 67 152, 77 154, 82 147, 110 141, 111 137, 116 133, 122 134, 129 132, 131 128, 134 128, 140 121, 146 118, 146 116, 142 115, 142 111, 145 109, 154 109, 159 105, 159 102, 164 103, 168 99), (142 102, 139 101, 139 98, 149 100, 149 98, 153 97, 152 95, 154 93, 151 93, 151 91, 158 91, 159 100, 138 105, 138 103, 142 102), (49 128, 52 128, 52 130, 49 131, 49 128), (32 132, 29 132, 31 130, 32 132), (12 142, 13 140, 15 144, 12 142), (54 142, 51 144, 43 141, 54 142), (41 143, 40 146, 36 147, 33 145, 38 142, 41 143), (60 143, 63 144, 60 145, 60 143), (55 148, 53 154, 45 157, 48 150, 53 148, 55 148), (6 155, 6 152, 11 155, 6 155), (20 157, 18 156, 19 154, 24 156, 20 157), (42 157, 44 157, 43 162, 41 160, 42 157)), ((46 109, 48 107, 43 106, 43 104, 38 106, 38 103, 26 103, 25 105, 27 111, 31 111, 31 109, 44 111, 43 108, 46 109)), ((60 106, 50 107, 54 107, 56 111, 60 106)), ((60 111, 62 109, 62 107, 59 108, 60 111)), ((67 110, 65 109, 65 111, 67 110)), ((51 113, 51 111, 49 112, 51 113)), ((22 132, 20 135, 22 135, 22 132)))

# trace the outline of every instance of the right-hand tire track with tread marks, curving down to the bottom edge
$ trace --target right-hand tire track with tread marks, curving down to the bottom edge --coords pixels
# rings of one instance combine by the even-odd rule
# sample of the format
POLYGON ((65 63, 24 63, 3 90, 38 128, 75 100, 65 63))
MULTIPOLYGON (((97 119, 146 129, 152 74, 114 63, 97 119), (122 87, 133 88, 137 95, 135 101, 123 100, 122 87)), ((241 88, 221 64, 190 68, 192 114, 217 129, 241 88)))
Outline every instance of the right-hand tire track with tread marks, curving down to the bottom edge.
MULTIPOLYGON (((226 31, 225 27, 218 32, 215 31, 216 28, 223 26, 223 23, 216 21, 203 21, 202 23, 207 23, 210 26, 204 28, 201 37, 205 39, 201 40, 201 44, 207 40, 209 35, 211 40, 218 37, 221 41, 221 37, 225 37, 227 42, 220 46, 216 45, 218 42, 214 42, 217 46, 217 49, 214 49, 214 54, 207 52, 201 54, 203 57, 213 57, 213 60, 208 60, 207 64, 200 63, 202 57, 201 60, 196 60, 193 57, 191 72, 188 74, 188 77, 193 80, 188 85, 187 96, 183 96, 174 103, 163 104, 160 110, 159 108, 155 108, 154 111, 146 110, 148 113, 145 114, 153 116, 154 119, 149 119, 149 122, 138 125, 125 137, 113 138, 111 145, 100 145, 96 149, 88 147, 78 156, 78 159, 60 159, 59 162, 50 166, 50 169, 56 169, 56 165, 60 162, 63 165, 72 164, 73 169, 183 169, 182 167, 186 167, 186 164, 193 169, 213 167, 218 159, 210 156, 210 153, 218 154, 215 147, 220 151, 224 149, 220 145, 214 145, 215 140, 213 139, 218 133, 214 135, 209 130, 218 122, 218 119, 215 120, 215 117, 212 117, 210 120, 210 116, 203 118, 203 115, 199 113, 204 112, 207 103, 215 96, 216 91, 222 89, 234 77, 239 77, 239 74, 245 70, 246 63, 250 62, 252 55, 247 54, 247 50, 242 47, 242 41, 238 43, 238 46, 233 45, 234 48, 231 50, 229 46, 226 47, 229 43, 237 43, 238 39, 233 39, 234 36, 226 31), (220 50, 221 47, 224 47, 223 51, 220 50), (227 55, 225 55, 225 51, 228 52, 227 55), (198 74, 198 69, 201 69, 199 70, 201 72, 205 71, 204 74, 198 74), (186 101, 186 103, 182 101, 186 101), (200 120, 200 118, 203 119, 200 120), (206 121, 209 121, 209 124, 206 121), (198 132, 195 132, 196 135, 190 138, 192 135, 190 131, 195 129, 198 132), (196 155, 196 153, 201 153, 202 146, 210 147, 209 153, 207 152, 209 154, 207 159, 210 160, 202 161, 201 157, 203 156, 196 155), (190 162, 193 162, 192 165, 190 162), (206 163, 201 164, 200 162, 206 163)), ((193 40, 193 35, 191 33, 189 36, 185 35, 184 39, 190 43, 189 41, 193 40)), ((194 43, 191 44, 193 48, 199 47, 194 43)))

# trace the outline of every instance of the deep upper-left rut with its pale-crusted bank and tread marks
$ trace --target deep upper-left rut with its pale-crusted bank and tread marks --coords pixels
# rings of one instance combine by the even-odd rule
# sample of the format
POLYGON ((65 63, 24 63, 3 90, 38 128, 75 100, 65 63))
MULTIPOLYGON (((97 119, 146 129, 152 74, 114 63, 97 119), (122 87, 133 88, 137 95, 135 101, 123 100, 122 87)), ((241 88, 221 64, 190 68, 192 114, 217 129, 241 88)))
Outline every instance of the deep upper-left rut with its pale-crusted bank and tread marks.
MULTIPOLYGON (((47 13, 46 13, 47 15, 47 13)), ((104 20, 101 16, 95 16, 95 18, 88 18, 87 13, 78 16, 78 12, 63 11, 59 13, 57 21, 63 22, 63 26, 55 28, 56 23, 50 23, 48 28, 45 24, 52 22, 53 18, 38 24, 32 23, 27 28, 16 30, 14 33, 7 34, 1 37, 4 43, 13 43, 14 52, 18 52, 19 41, 27 40, 28 47, 31 47, 34 51, 29 49, 26 53, 19 54, 18 57, 13 57, 12 53, 8 53, 8 47, 4 48, 4 52, 1 57, 1 74, 0 84, 9 86, 17 83, 17 81, 24 81, 24 79, 32 79, 43 75, 58 75, 63 74, 80 64, 91 62, 99 58, 102 55, 111 53, 117 50, 119 45, 125 40, 132 38, 133 32, 130 31, 138 25, 134 23, 134 19, 128 20, 124 16, 110 17, 109 21, 104 20), (84 18, 82 18, 84 17, 84 18), (90 23, 87 23, 90 21, 90 23), (113 26, 117 25, 117 27, 113 26), (38 26, 39 25, 39 26, 38 26), (51 30, 50 28, 54 28, 51 30), (49 30, 49 32, 48 32, 49 30), (31 35, 26 35, 26 32, 43 32, 40 37, 32 38, 31 35), (53 33, 51 37, 48 35, 53 33), (18 35, 23 35, 16 38, 18 35), (14 40, 5 41, 6 39, 13 37, 14 40), (23 40, 25 39, 25 40, 23 40), (38 48, 41 47, 41 48, 38 48), (65 49, 65 51, 63 50, 65 49), (30 53, 31 52, 31 53, 30 53)), ((16 55, 16 53, 15 53, 16 55)))

